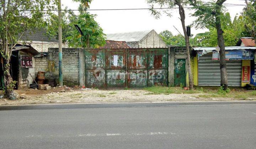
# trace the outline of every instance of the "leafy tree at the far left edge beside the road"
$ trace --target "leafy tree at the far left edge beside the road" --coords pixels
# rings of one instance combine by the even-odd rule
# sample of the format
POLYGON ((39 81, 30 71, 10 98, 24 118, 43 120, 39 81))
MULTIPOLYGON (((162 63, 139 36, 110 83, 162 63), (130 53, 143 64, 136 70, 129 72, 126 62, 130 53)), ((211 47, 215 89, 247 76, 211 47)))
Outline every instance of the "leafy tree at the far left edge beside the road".
POLYGON ((4 89, 7 98, 15 100, 15 81, 10 75, 12 49, 28 29, 43 26, 43 16, 50 0, 0 0, 0 54, 4 59, 4 89))

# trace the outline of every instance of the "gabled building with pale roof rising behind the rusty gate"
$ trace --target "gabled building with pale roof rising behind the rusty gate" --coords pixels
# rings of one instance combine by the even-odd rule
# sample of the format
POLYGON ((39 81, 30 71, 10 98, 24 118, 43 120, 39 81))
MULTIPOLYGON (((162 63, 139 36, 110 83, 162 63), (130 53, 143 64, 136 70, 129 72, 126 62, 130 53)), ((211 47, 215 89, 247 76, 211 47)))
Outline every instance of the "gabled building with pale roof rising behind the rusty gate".
POLYGON ((131 48, 166 47, 166 44, 154 29, 151 31, 107 34, 107 40, 126 41, 131 48))

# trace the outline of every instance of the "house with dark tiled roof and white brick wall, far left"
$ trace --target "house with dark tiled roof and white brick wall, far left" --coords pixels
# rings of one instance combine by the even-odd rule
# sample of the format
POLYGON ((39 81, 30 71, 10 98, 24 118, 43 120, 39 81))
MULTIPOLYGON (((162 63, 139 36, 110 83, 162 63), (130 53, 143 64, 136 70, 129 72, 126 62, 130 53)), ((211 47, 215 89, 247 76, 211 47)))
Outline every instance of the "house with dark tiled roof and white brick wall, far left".
MULTIPOLYGON (((48 52, 48 48, 58 48, 58 40, 47 34, 46 29, 35 29, 34 31, 26 31, 20 38, 20 43, 31 45, 38 52, 48 52)), ((62 45, 63 48, 68 48, 67 44, 62 45)))

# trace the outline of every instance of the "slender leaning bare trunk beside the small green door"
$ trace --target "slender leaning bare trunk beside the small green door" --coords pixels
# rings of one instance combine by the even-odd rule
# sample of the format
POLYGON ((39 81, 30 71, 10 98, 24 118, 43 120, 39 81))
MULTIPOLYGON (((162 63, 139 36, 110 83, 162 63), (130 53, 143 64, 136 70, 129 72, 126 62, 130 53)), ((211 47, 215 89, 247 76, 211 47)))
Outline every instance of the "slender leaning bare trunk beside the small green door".
POLYGON ((183 29, 183 32, 184 32, 185 42, 186 42, 186 50, 187 50, 186 53, 187 53, 187 64, 188 64, 187 69, 188 69, 189 86, 190 86, 190 89, 193 89, 194 88, 194 81, 193 81, 193 74, 192 74, 192 70, 191 70, 189 37, 187 35, 186 26, 185 26, 185 11, 184 11, 182 5, 180 3, 178 3, 178 1, 176 1, 176 2, 179 6, 181 24, 182 24, 182 29, 183 29))

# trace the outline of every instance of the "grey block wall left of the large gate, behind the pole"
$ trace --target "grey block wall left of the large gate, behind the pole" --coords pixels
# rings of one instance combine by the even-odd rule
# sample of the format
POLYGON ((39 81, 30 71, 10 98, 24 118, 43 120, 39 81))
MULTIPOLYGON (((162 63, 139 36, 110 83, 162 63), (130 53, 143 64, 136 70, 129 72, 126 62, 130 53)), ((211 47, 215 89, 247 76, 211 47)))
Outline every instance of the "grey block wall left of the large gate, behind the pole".
MULTIPOLYGON (((35 72, 46 72, 49 65, 49 60, 54 61, 55 71, 52 72, 52 77, 56 79, 58 84, 59 78, 59 49, 49 48, 49 56, 36 57, 35 72)), ((63 84, 64 85, 79 85, 79 49, 76 48, 63 48, 62 49, 62 66, 63 66, 63 84)), ((51 73, 46 72, 46 79, 50 78, 51 73)))

